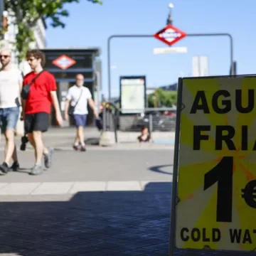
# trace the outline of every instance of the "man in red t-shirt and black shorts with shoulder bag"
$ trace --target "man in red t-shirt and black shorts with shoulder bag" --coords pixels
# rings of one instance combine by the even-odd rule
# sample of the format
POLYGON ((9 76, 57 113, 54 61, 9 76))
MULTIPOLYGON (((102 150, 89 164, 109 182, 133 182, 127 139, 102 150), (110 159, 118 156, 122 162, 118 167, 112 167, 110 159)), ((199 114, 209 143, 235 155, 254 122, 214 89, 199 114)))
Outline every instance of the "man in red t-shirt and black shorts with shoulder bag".
POLYGON ((43 173, 43 167, 41 165, 43 156, 46 168, 50 168, 51 165, 53 149, 47 149, 43 146, 42 132, 48 130, 52 102, 55 108, 55 117, 59 125, 62 124, 63 119, 56 94, 55 78, 48 71, 43 70, 46 56, 40 50, 30 50, 26 58, 28 64, 31 66, 32 72, 25 76, 23 86, 28 85, 33 78, 36 79, 31 84, 27 100, 22 100, 22 118, 24 119, 24 127, 26 134, 28 134, 28 140, 36 152, 36 164, 33 166, 31 174, 38 175, 43 173), (38 75, 39 73, 40 75, 38 75))

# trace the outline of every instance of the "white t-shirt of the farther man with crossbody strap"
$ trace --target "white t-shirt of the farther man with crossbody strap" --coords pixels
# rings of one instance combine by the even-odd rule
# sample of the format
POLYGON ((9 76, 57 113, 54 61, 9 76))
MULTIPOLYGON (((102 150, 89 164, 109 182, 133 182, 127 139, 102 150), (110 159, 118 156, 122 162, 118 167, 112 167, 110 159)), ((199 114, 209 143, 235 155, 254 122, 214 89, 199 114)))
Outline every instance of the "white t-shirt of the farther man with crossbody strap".
POLYGON ((78 87, 77 85, 70 87, 66 96, 66 99, 71 101, 71 106, 75 106, 78 103, 75 106, 74 114, 88 114, 87 101, 91 98, 92 94, 87 87, 78 87))

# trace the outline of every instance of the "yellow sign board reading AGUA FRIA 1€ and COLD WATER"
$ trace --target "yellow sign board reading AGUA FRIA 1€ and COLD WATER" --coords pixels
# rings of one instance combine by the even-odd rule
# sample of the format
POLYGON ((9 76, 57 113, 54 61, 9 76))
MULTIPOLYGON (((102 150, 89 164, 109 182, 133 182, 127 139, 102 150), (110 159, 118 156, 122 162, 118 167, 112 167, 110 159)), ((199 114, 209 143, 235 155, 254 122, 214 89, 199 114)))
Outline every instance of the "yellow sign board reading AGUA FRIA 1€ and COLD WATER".
POLYGON ((256 247, 256 77, 182 83, 176 247, 256 247))

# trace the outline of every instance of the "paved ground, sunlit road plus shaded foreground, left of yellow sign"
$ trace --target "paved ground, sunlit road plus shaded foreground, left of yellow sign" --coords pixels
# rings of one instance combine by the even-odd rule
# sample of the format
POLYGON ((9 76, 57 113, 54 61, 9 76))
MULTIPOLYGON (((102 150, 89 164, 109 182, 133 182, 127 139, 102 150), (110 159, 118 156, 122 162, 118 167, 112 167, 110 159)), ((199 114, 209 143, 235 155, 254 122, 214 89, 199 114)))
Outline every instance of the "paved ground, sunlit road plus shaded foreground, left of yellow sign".
POLYGON ((18 156, 0 176, 0 255, 168 255, 173 149, 55 151, 41 176, 32 151, 18 156))

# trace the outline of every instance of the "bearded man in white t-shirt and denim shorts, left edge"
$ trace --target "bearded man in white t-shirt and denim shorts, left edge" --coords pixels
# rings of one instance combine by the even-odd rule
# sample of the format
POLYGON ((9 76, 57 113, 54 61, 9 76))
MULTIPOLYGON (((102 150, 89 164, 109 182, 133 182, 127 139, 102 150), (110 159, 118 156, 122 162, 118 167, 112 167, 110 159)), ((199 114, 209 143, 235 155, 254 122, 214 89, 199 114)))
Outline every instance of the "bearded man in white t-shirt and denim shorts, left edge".
POLYGON ((0 171, 7 174, 10 169, 13 171, 19 169, 14 133, 20 113, 23 76, 20 70, 11 68, 10 50, 1 50, 0 61, 0 127, 1 134, 4 134, 6 139, 4 162, 0 165, 0 171), (10 167, 11 158, 14 163, 10 167))

